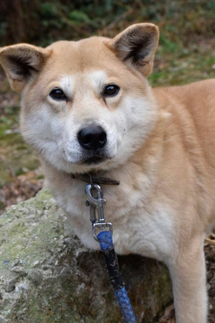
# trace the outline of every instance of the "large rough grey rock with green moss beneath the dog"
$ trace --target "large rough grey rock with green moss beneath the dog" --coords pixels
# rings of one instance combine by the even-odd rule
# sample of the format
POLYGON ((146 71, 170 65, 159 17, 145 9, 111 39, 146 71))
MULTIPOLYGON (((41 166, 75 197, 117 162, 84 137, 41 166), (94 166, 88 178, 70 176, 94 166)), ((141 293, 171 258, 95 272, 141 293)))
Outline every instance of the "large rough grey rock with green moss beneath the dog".
MULTIPOLYGON (((101 253, 81 245, 49 192, 1 215, 0 237, 0 323, 123 322, 101 253)), ((166 267, 118 260, 137 321, 153 322, 172 299, 166 267)))

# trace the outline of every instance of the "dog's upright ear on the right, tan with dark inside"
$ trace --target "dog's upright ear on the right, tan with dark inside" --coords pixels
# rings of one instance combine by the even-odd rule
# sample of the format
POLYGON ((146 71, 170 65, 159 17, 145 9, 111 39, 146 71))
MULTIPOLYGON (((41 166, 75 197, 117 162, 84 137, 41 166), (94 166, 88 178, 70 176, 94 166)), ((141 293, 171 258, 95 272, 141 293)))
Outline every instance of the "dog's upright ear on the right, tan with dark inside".
POLYGON ((120 60, 147 77, 153 68, 158 39, 159 29, 154 24, 135 24, 111 39, 107 46, 120 60))

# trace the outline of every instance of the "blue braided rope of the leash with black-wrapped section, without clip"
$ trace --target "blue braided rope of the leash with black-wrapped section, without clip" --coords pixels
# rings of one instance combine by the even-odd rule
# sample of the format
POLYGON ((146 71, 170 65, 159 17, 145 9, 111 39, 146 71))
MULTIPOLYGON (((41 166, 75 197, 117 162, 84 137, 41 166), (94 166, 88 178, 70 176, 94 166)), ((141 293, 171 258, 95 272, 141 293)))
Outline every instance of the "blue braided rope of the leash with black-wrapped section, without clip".
POLYGON ((125 323, 136 323, 133 309, 129 297, 127 296, 122 277, 119 273, 119 266, 117 261, 117 255, 114 251, 114 244, 111 233, 109 231, 102 231, 97 236, 101 251, 105 257, 105 266, 110 275, 111 282, 115 289, 115 295, 119 307, 122 312, 125 323))

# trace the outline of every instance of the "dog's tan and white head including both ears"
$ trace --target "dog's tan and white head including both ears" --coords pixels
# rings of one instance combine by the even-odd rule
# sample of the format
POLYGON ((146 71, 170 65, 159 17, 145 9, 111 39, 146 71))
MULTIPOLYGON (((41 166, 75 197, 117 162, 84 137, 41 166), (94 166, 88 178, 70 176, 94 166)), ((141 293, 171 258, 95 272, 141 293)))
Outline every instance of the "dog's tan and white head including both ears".
POLYGON ((125 163, 154 127, 147 76, 158 27, 136 24, 113 39, 3 47, 0 62, 21 93, 21 130, 53 167, 108 170, 125 163))

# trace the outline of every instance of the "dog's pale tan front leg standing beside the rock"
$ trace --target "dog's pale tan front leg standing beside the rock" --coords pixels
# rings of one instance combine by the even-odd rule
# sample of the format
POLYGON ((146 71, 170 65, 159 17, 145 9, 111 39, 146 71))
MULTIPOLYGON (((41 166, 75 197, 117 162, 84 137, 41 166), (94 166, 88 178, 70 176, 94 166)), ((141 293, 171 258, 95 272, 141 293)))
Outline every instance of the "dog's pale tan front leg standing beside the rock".
POLYGON ((200 241, 186 245, 169 264, 176 323, 207 322, 206 273, 200 241))

